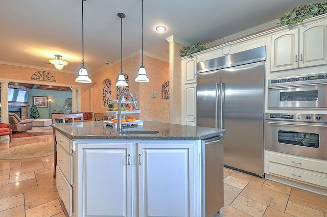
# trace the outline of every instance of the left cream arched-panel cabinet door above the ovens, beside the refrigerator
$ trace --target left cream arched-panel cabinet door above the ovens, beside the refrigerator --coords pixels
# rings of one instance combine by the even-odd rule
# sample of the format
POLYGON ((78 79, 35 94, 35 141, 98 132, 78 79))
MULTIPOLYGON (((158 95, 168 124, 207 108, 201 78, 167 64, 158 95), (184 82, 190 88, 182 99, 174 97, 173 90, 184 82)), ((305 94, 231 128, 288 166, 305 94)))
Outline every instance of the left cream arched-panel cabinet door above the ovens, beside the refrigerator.
POLYGON ((279 71, 298 67, 298 29, 271 37, 271 69, 279 71))

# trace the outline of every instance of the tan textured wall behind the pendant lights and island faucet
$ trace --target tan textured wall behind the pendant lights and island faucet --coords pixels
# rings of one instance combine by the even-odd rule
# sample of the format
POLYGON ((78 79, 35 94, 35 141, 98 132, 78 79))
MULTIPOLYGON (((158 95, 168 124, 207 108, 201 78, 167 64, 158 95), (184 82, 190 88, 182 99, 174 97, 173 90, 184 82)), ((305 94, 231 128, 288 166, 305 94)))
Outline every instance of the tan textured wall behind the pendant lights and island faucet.
MULTIPOLYGON (((149 83, 137 83, 134 81, 139 66, 141 65, 141 55, 136 55, 123 61, 123 73, 129 77, 129 92, 135 96, 137 93, 137 105, 141 113, 130 115, 139 120, 161 120, 169 122, 169 99, 161 98, 161 86, 169 81, 169 63, 160 61, 148 56, 144 56, 144 65, 149 83), (157 97, 153 97, 153 93, 157 97)), ((111 80, 112 100, 116 100, 115 80, 121 70, 121 63, 115 64, 91 76, 92 89, 94 92, 94 111, 105 112, 108 108, 102 102, 103 81, 111 80)), ((117 105, 114 105, 117 106, 117 105)))

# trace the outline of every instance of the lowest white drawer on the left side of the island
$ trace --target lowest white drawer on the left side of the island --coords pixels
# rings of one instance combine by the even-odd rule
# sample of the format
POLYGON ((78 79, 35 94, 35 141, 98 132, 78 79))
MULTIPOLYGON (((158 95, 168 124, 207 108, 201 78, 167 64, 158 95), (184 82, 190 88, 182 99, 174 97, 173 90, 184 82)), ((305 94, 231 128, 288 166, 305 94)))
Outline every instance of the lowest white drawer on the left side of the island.
POLYGON ((63 204, 65 205, 66 211, 68 212, 69 216, 72 216, 73 212, 73 187, 65 180, 63 174, 61 173, 60 169, 57 167, 57 190, 60 199, 62 200, 63 204))

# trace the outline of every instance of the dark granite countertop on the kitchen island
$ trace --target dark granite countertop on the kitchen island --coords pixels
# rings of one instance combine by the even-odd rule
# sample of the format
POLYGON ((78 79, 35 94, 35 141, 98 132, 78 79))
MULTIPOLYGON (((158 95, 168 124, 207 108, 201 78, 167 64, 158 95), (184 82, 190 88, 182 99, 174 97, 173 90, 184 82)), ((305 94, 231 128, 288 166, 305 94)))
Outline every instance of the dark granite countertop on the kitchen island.
POLYGON ((52 124, 58 132, 72 140, 79 139, 121 139, 121 140, 206 140, 218 137, 225 129, 195 127, 180 124, 144 121, 143 126, 123 128, 126 130, 156 130, 155 134, 119 133, 115 128, 107 126, 104 121, 87 121, 75 123, 52 124))

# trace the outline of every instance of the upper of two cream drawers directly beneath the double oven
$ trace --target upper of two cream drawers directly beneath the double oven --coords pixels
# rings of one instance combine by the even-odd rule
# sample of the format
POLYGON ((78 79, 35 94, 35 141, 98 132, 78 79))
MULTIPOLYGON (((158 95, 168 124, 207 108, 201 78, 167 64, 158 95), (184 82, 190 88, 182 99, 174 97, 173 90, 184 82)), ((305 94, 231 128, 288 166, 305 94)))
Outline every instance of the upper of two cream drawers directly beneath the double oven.
POLYGON ((269 161, 327 174, 327 162, 316 161, 314 159, 304 159, 283 154, 269 153, 269 161))

